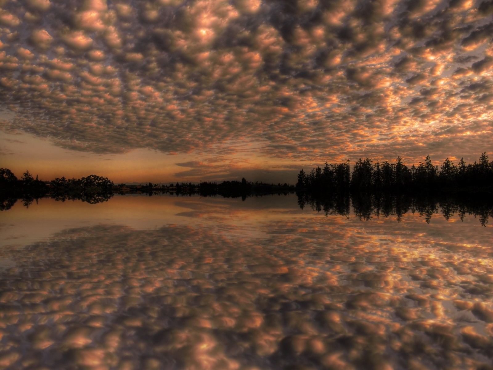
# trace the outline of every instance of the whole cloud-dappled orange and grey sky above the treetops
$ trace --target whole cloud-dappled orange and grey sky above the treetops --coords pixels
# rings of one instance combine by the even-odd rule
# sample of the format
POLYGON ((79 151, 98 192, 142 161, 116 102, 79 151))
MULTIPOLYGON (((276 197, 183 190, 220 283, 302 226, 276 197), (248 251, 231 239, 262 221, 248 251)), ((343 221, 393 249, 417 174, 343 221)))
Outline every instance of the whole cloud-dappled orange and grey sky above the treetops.
POLYGON ((493 1, 0 0, 0 167, 296 182, 493 152, 493 1))

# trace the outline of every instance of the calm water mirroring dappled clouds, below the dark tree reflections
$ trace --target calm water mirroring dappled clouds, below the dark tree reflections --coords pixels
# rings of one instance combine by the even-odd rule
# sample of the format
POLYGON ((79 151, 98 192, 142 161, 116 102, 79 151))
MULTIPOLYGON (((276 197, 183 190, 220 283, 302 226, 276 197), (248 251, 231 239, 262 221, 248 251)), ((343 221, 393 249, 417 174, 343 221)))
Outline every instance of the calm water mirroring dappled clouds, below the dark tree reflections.
POLYGON ((296 196, 0 213, 0 369, 490 369, 493 227, 296 196))

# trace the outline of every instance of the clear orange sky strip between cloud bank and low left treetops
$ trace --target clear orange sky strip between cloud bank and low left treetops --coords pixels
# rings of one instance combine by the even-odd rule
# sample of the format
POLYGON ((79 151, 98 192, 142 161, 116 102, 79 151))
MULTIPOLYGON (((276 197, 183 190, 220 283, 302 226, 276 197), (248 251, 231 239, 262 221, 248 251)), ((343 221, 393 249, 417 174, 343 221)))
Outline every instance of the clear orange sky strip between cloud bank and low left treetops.
MULTIPOLYGON (((1 138, 4 140, 3 155, 10 158, 8 165, 1 163, 0 166, 9 168, 18 178, 29 170, 33 176, 38 175, 44 181, 62 176, 81 178, 96 174, 107 177, 114 183, 238 180, 243 176, 247 176, 248 181, 292 183, 297 173, 293 169, 266 172, 262 167, 266 166, 267 160, 252 155, 243 160, 243 154, 237 155, 236 164, 223 166, 221 162, 196 163, 193 155, 170 155, 151 149, 134 149, 123 154, 96 154, 60 148, 49 140, 31 134, 4 133, 1 138), (56 167, 53 166, 55 158, 56 167), (246 162, 248 164, 245 166, 246 162), (201 171, 201 163, 208 168, 207 173, 201 171)), ((234 156, 229 159, 232 157, 234 156)), ((274 163, 282 168, 282 161, 279 159, 269 161, 268 165, 272 166, 274 163)), ((285 165, 288 164, 291 162, 285 161, 285 165)))

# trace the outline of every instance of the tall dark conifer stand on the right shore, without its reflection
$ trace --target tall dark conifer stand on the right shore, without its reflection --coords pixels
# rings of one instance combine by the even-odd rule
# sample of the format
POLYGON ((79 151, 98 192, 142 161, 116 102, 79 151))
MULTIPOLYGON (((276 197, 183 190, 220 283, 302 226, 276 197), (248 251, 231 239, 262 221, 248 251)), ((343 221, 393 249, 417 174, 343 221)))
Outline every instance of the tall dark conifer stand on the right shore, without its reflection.
POLYGON ((313 168, 310 173, 302 169, 298 174, 297 188, 312 192, 341 191, 415 191, 415 190, 465 190, 492 191, 493 162, 486 152, 481 153, 479 162, 466 164, 461 158, 454 164, 449 158, 434 166, 427 155, 424 162, 406 166, 400 156, 395 163, 373 162, 359 158, 350 171, 349 160, 339 164, 325 162, 323 168, 313 168))

